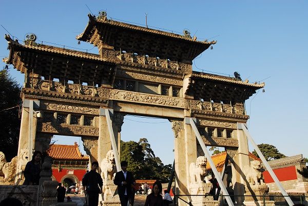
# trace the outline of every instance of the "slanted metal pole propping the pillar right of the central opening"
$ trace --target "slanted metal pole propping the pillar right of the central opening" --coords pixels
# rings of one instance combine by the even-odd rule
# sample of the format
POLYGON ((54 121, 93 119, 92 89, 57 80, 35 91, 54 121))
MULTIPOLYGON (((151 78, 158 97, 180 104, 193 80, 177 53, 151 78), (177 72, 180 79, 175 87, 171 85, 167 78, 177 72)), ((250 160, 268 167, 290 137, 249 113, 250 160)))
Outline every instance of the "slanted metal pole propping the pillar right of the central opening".
POLYGON ((233 202, 232 202, 232 200, 231 200, 231 198, 230 198, 230 196, 229 196, 229 193, 228 193, 228 191, 227 191, 225 185, 224 185, 223 182, 222 182, 221 176, 220 176, 219 172, 217 171, 217 168, 216 168, 216 166, 215 166, 213 160, 211 159, 211 157, 210 157, 210 155, 209 155, 209 153, 208 153, 208 151, 207 151, 207 149, 206 149, 206 146, 205 146, 205 144, 204 144, 204 142, 203 142, 203 140, 202 140, 202 138, 201 138, 201 135, 200 135, 200 133, 199 133, 199 131, 198 131, 198 129, 197 129, 197 126, 196 126, 194 120, 193 120, 192 118, 189 118, 189 123, 190 123, 190 125, 191 125, 191 127, 192 127, 192 130, 194 130, 195 135, 197 136, 197 139, 198 139, 198 141, 199 141, 199 144, 201 145, 202 150, 203 150, 203 152, 204 152, 204 156, 206 157, 207 161, 209 162, 210 168, 211 168, 212 171, 214 172, 214 174, 215 174, 215 176, 216 176, 216 179, 217 179, 217 181, 218 181, 218 183, 219 183, 219 186, 220 186, 220 188, 221 188, 223 194, 226 195, 226 200, 227 200, 227 202, 228 202, 228 205, 229 205, 229 206, 234 206, 234 204, 233 204, 233 202))

